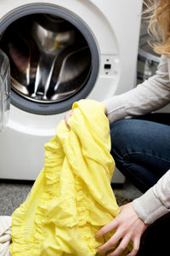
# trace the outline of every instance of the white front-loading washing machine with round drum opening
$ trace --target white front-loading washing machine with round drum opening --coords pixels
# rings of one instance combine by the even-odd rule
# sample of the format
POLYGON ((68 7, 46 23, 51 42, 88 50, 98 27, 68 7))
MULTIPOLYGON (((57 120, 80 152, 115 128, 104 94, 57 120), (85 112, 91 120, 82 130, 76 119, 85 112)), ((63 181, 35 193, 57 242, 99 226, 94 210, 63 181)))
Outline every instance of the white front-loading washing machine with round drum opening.
MULTIPOLYGON (((134 86, 142 1, 1 0, 0 49, 11 69, 0 178, 34 180, 44 143, 71 104, 134 86)), ((115 182, 122 175, 115 172, 115 182)))

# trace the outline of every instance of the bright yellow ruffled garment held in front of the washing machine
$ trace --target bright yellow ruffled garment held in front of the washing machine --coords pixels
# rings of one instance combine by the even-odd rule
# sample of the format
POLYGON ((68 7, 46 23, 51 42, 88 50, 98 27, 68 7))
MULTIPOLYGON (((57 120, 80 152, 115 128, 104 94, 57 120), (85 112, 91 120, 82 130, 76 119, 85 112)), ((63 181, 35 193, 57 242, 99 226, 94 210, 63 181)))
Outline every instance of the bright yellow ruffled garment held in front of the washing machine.
POLYGON ((93 256, 111 237, 94 238, 119 212, 111 189, 115 163, 105 107, 81 100, 72 109, 71 129, 64 120, 59 123, 45 144, 45 164, 31 194, 14 211, 12 255, 93 256))

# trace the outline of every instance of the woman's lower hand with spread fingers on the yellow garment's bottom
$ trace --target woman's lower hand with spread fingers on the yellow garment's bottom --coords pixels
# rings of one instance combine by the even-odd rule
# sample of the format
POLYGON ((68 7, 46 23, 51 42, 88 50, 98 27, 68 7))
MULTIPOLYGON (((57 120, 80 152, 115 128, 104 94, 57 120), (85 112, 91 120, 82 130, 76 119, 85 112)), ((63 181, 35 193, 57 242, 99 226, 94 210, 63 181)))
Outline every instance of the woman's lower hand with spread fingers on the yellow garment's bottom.
POLYGON ((111 230, 116 230, 116 233, 111 236, 111 239, 101 247, 98 248, 98 253, 103 253, 113 247, 118 241, 120 244, 116 247, 116 250, 109 253, 108 256, 120 255, 129 241, 133 241, 133 250, 128 253, 127 256, 134 256, 139 251, 139 243, 144 230, 148 227, 148 224, 144 224, 144 221, 139 218, 136 212, 133 210, 132 203, 128 203, 120 207, 120 213, 109 224, 106 224, 101 230, 96 233, 96 238, 104 236, 111 230))

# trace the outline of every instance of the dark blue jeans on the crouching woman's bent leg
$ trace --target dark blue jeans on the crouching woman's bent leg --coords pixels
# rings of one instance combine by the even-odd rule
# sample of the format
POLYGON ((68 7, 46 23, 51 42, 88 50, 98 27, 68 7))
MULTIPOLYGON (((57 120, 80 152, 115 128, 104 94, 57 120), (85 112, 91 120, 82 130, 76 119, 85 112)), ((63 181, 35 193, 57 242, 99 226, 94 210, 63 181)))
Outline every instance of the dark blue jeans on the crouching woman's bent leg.
POLYGON ((170 113, 150 113, 111 124, 116 167, 145 192, 170 169, 170 113))

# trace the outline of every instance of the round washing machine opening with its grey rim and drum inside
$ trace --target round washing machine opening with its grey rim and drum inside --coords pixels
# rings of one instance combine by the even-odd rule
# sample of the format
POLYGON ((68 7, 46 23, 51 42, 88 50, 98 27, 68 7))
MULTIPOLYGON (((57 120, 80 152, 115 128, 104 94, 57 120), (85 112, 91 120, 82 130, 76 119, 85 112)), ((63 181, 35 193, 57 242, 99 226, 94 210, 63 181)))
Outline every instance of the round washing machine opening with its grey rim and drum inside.
POLYGON ((27 113, 67 111, 88 96, 99 72, 99 51, 88 26, 53 9, 13 20, 0 38, 10 62, 12 105, 27 113))

